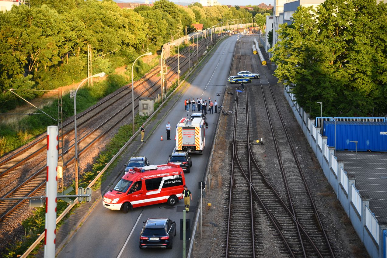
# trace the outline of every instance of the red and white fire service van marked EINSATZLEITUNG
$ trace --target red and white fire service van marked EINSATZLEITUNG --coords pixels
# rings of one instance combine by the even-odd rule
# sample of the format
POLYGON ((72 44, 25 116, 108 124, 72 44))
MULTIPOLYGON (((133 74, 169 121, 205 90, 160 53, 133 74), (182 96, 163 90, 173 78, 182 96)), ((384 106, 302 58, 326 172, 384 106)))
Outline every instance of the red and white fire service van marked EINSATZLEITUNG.
POLYGON ((117 185, 103 197, 103 206, 124 213, 130 207, 140 207, 156 203, 175 205, 183 198, 185 186, 183 169, 180 165, 168 163, 134 167, 128 171, 117 185))

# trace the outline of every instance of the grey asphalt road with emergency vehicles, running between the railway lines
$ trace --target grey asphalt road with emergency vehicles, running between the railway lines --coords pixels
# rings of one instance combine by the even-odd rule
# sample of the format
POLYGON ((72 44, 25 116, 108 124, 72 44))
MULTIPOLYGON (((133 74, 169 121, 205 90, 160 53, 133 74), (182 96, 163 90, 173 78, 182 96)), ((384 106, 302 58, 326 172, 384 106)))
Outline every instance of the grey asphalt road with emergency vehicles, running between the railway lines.
MULTIPOLYGON (((236 44, 236 36, 225 39, 212 54, 209 61, 201 69, 191 86, 161 121, 153 135, 147 138, 139 155, 148 157, 152 165, 165 164, 168 155, 175 147, 175 125, 182 117, 190 112, 184 110, 184 100, 187 98, 202 97, 207 100, 215 99, 218 106, 223 99, 224 88, 227 85, 229 69, 233 59, 236 44), (221 96, 216 96, 220 94, 221 96), (166 123, 171 123, 171 140, 166 140, 166 123), (164 140, 160 141, 163 135, 164 140)), ((185 174, 188 188, 192 191, 190 212, 187 219, 194 222, 194 210, 199 198, 198 182, 202 181, 207 158, 211 150, 212 138, 215 132, 215 123, 218 114, 207 113, 208 129, 205 131, 205 151, 203 155, 192 155, 191 172, 185 174)), ((79 231, 59 253, 59 258, 93 257, 93 258, 127 258, 127 257, 182 257, 182 240, 180 240, 180 219, 183 217, 184 203, 180 200, 175 206, 151 205, 135 208, 127 214, 104 208, 99 201, 79 231), (177 224, 177 234, 173 239, 173 249, 139 249, 139 232, 143 227, 143 221, 152 217, 169 217, 177 224)), ((188 249, 188 246, 187 246, 188 249)))

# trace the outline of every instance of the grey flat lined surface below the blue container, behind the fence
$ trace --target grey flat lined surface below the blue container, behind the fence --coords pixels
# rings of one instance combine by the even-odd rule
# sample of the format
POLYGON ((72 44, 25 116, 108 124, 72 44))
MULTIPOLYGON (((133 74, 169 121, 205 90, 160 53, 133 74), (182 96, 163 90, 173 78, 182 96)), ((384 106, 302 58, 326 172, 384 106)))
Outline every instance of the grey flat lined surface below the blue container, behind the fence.
POLYGON ((362 197, 370 198, 370 210, 379 223, 387 223, 387 153, 337 151, 344 161, 344 170, 356 178, 356 189, 362 197), (356 162, 357 161, 357 162, 356 162))

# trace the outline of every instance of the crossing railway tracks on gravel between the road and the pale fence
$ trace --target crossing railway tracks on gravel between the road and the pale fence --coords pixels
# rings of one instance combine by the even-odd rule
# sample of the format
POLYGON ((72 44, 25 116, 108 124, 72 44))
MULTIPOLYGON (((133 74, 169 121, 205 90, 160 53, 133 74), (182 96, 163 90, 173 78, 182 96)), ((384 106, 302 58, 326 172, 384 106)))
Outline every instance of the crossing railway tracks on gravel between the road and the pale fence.
MULTIPOLYGON (((256 65, 255 61, 253 63, 256 65)), ((257 65, 256 70, 259 70, 257 65)), ((265 77, 267 79, 266 74, 265 77)), ((335 257, 333 250, 302 175, 301 166, 296 161, 297 157, 276 104, 270 82, 267 80, 268 85, 265 85, 265 89, 269 92, 265 92, 261 80, 262 95, 272 138, 276 142, 275 148, 279 166, 283 172, 283 182, 277 181, 273 186, 273 183, 270 183, 265 176, 262 164, 255 159, 258 153, 255 152, 253 142, 250 141, 252 121, 249 119, 248 109, 248 99, 253 96, 247 93, 248 89, 246 92, 236 92, 226 257, 240 257, 236 255, 238 252, 236 248, 243 252, 243 257, 264 257, 258 251, 263 248, 262 242, 264 241, 259 235, 260 220, 253 208, 248 209, 254 206, 254 203, 250 203, 254 201, 265 211, 265 215, 271 221, 271 227, 277 232, 276 245, 281 256, 333 258, 335 257), (245 96, 241 97, 242 94, 245 96), (266 99, 270 94, 271 99, 266 99), (274 112, 276 113, 273 114, 274 112), (271 117, 274 116, 279 118, 271 120, 271 117), (290 157, 285 152, 285 149, 289 150, 289 148, 293 149, 293 162, 289 161, 290 157), (285 159, 286 162, 284 162, 285 159), (276 190, 283 188, 286 189, 286 194, 276 190), (244 196, 249 196, 249 192, 251 198, 245 198, 244 196), (235 195, 238 195, 238 198, 235 195), (294 199, 296 200, 293 201, 294 199), (240 214, 241 210, 245 214, 240 214), (247 214, 252 214, 251 219, 247 218, 247 214), (243 217, 243 223, 241 221, 238 223, 238 220, 233 219, 234 217, 243 217), (250 241, 245 243, 247 240, 250 241)))

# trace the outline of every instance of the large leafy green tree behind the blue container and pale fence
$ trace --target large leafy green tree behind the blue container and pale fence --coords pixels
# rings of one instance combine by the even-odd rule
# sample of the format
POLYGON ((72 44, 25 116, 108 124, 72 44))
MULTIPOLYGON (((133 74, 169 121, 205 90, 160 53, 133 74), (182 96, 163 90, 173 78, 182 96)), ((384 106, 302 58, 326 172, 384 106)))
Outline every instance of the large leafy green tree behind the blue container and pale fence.
POLYGON ((276 76, 293 85, 297 102, 323 116, 387 113, 386 4, 327 0, 300 7, 291 26, 279 29, 272 60, 276 76))

